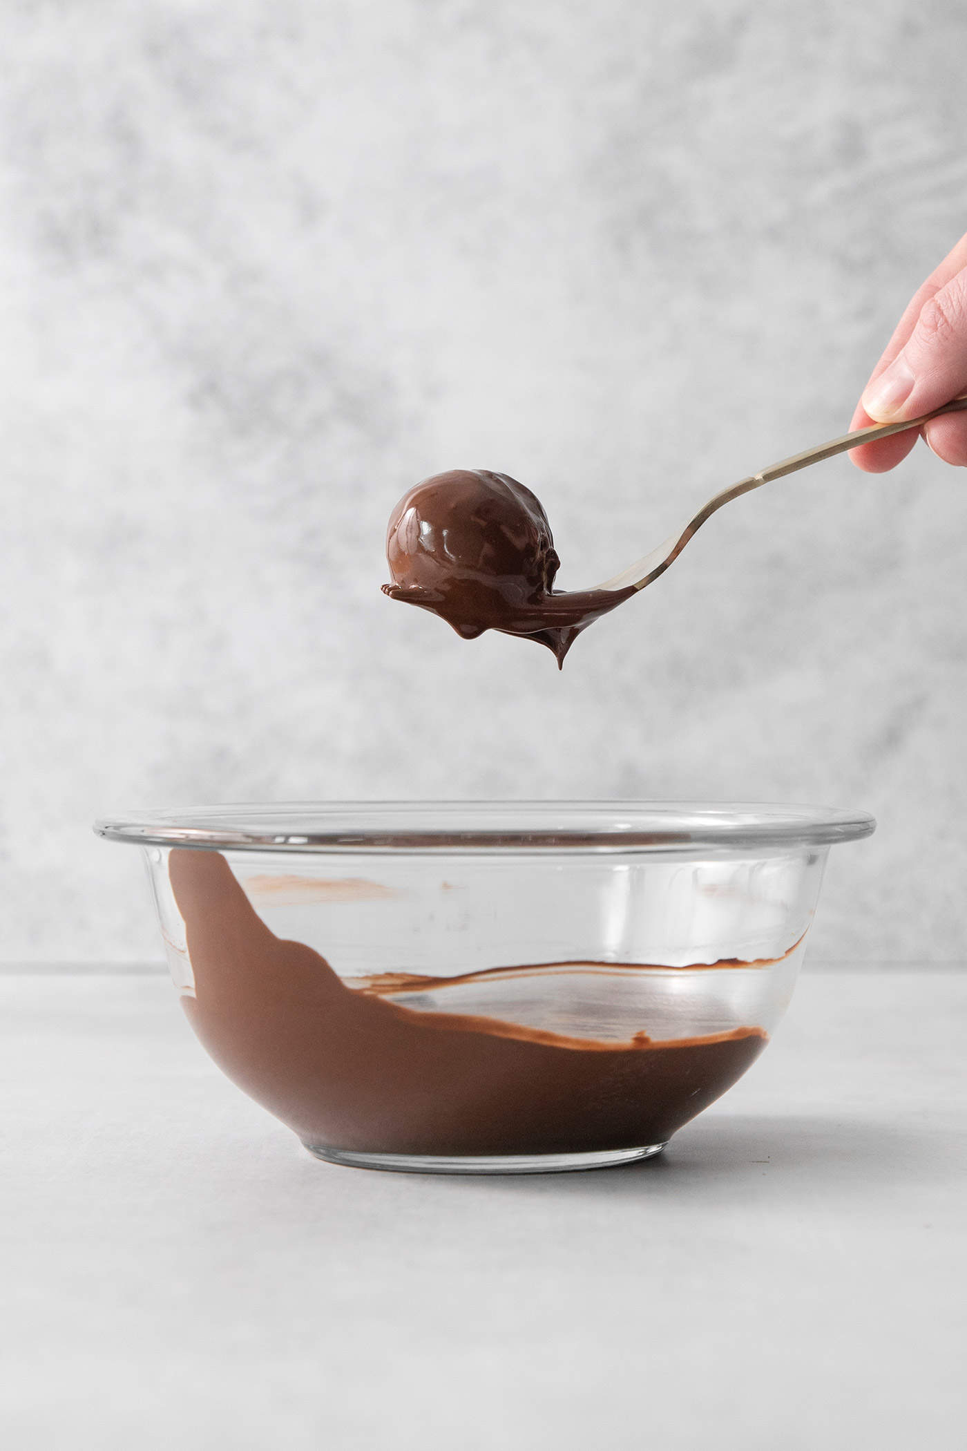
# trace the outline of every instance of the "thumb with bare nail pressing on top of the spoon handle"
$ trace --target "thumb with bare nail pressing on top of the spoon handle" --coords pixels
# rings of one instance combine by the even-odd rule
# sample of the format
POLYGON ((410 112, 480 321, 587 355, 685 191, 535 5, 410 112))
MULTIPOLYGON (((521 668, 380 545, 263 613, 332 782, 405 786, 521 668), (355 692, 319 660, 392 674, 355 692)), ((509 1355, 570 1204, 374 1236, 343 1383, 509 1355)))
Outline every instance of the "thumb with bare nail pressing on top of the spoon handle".
POLYGON ((921 308, 905 347, 867 386, 863 406, 877 422, 918 418, 967 392, 967 267, 921 308))

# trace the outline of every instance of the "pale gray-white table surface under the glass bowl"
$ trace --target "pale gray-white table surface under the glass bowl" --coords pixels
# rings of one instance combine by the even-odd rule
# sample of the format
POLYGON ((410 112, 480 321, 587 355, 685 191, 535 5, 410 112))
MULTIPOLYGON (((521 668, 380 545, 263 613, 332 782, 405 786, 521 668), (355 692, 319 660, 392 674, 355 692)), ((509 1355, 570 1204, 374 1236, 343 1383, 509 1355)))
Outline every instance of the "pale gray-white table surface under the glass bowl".
POLYGON ((3 1442, 967 1444, 967 972, 806 971, 649 1164, 335 1168, 161 975, 0 975, 3 1442))

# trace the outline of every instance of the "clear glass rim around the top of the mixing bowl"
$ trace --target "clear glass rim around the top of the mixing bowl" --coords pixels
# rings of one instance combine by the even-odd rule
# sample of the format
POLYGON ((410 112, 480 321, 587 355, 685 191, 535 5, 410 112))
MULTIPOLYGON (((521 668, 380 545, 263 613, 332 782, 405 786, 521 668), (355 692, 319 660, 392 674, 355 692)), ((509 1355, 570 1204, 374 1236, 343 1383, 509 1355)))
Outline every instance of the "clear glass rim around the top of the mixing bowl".
POLYGON ((876 830, 868 811, 689 801, 281 801, 101 817, 136 846, 304 853, 683 853, 829 846, 876 830))

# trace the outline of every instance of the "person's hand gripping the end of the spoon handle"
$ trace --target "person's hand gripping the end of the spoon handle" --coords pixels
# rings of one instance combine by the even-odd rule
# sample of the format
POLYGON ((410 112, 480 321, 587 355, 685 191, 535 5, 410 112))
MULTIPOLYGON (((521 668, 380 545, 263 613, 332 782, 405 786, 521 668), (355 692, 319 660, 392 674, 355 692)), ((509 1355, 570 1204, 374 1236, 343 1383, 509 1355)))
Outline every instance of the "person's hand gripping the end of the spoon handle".
MULTIPOLYGON (((918 418, 967 393, 967 235, 931 273, 899 321, 873 370, 850 428, 918 418)), ((934 418, 924 434, 938 459, 967 466, 967 414, 934 418)), ((906 459, 918 438, 910 428, 850 457, 866 473, 886 473, 906 459)))

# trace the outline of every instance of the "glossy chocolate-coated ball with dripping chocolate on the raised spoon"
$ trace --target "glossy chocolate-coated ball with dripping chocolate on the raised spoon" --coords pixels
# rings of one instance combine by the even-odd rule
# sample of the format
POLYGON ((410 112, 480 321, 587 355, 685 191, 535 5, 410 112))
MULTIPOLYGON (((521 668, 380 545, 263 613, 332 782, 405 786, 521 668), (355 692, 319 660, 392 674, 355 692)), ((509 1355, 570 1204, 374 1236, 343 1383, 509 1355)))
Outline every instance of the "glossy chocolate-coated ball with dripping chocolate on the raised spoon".
POLYGON ((484 630, 536 640, 558 666, 581 630, 635 593, 555 591, 560 559, 541 501, 486 469, 451 469, 403 495, 386 557, 391 599, 431 609, 465 640, 484 630))

